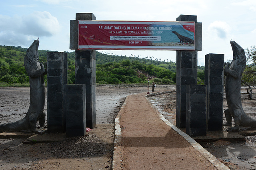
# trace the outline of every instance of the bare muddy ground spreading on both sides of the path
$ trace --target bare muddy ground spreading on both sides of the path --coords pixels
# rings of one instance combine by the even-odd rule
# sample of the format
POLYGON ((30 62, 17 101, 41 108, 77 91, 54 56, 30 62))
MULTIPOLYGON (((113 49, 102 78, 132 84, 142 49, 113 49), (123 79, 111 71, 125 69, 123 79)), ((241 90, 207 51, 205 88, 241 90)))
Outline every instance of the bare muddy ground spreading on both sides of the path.
MULTIPOLYGON (((175 86, 162 86, 156 90, 175 90, 175 86)), ((0 169, 112 169, 114 118, 126 96, 139 92, 146 94, 147 91, 148 88, 138 86, 96 86, 96 128, 84 137, 54 143, 26 144, 26 138, 21 137, 0 139, 0 169)), ((0 88, 0 123, 24 117, 29 100, 29 88, 0 88)), ((175 92, 149 100, 175 125, 175 92)), ((242 95, 242 102, 245 112, 256 118, 256 101, 247 100, 247 96, 242 95)), ((224 101, 224 109, 226 107, 224 101)), ((217 141, 202 145, 226 162, 230 169, 256 169, 255 136, 246 137, 246 143, 217 141)))

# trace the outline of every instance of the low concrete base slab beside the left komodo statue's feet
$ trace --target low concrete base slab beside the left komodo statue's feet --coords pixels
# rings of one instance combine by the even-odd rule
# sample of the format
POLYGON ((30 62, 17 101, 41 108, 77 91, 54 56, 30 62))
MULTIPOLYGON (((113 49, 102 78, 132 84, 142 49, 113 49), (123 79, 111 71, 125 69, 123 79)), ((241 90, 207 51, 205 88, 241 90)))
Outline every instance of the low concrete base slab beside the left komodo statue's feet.
POLYGON ((45 135, 32 135, 28 138, 30 142, 48 143, 63 141, 66 138, 66 133, 49 133, 45 135))

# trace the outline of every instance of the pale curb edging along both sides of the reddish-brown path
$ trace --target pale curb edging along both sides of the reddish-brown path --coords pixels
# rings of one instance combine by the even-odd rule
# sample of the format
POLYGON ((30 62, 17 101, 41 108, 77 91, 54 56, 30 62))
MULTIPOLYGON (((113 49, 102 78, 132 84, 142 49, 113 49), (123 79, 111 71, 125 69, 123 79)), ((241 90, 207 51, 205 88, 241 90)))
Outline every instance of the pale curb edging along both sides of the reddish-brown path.
MULTIPOLYGON (((165 92, 168 93, 168 92, 165 92)), ((161 94, 161 93, 158 93, 161 94)), ((164 93, 162 93, 164 94, 164 93)), ((130 95, 129 95, 130 96, 130 95)), ((146 98, 146 96, 145 96, 146 98)), ((127 97, 126 97, 127 99, 127 97)), ((146 100, 150 103, 150 101, 148 100, 148 98, 146 98, 146 100)), ((151 104, 151 103, 150 103, 151 104)), ((123 157, 122 157, 122 130, 121 130, 121 126, 120 126, 120 116, 122 114, 122 108, 123 106, 126 105, 126 100, 124 102, 124 104, 122 105, 120 111, 118 112, 118 115, 116 116, 115 119, 115 130, 114 130, 114 152, 113 152, 113 162, 112 162, 112 169, 113 170, 123 170, 123 157)), ((152 104, 151 104, 152 106, 152 104)), ((184 139, 186 139, 186 141, 188 141, 188 143, 190 143, 192 145, 192 147, 194 147, 194 149, 198 150, 200 153, 202 153, 202 155, 216 168, 218 168, 218 170, 230 170, 226 165, 224 165, 223 163, 221 163, 215 156, 213 156, 212 154, 210 154, 210 152, 208 152, 206 149, 204 149, 201 145, 199 145, 199 143, 197 143, 194 139, 192 139, 189 135, 187 135, 186 133, 184 133, 183 131, 181 131, 180 129, 178 129, 178 127, 174 126, 172 123, 170 123, 167 119, 164 118, 164 116, 154 107, 152 106, 155 110, 156 113, 158 114, 158 116, 160 117, 160 119, 162 121, 164 121, 164 123, 166 123, 166 125, 170 126, 172 129, 174 129, 179 135, 181 135, 182 137, 184 137, 184 139)))

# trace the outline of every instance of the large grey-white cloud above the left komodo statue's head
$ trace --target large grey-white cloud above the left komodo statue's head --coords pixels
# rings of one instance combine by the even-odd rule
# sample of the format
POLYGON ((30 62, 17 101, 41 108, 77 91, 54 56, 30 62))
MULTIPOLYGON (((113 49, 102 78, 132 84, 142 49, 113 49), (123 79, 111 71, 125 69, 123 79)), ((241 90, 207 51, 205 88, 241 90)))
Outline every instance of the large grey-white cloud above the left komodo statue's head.
POLYGON ((49 12, 33 12, 27 16, 0 15, 0 44, 28 45, 37 37, 51 37, 60 30, 56 17, 49 12))

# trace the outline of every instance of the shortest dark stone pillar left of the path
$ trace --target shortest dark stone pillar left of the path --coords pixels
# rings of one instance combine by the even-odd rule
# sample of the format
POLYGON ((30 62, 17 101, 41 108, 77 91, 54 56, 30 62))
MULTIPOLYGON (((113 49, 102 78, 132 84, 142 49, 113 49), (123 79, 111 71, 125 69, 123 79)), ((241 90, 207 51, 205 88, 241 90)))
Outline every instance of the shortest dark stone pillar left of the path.
POLYGON ((86 85, 64 85, 66 136, 83 136, 86 133, 86 85))

